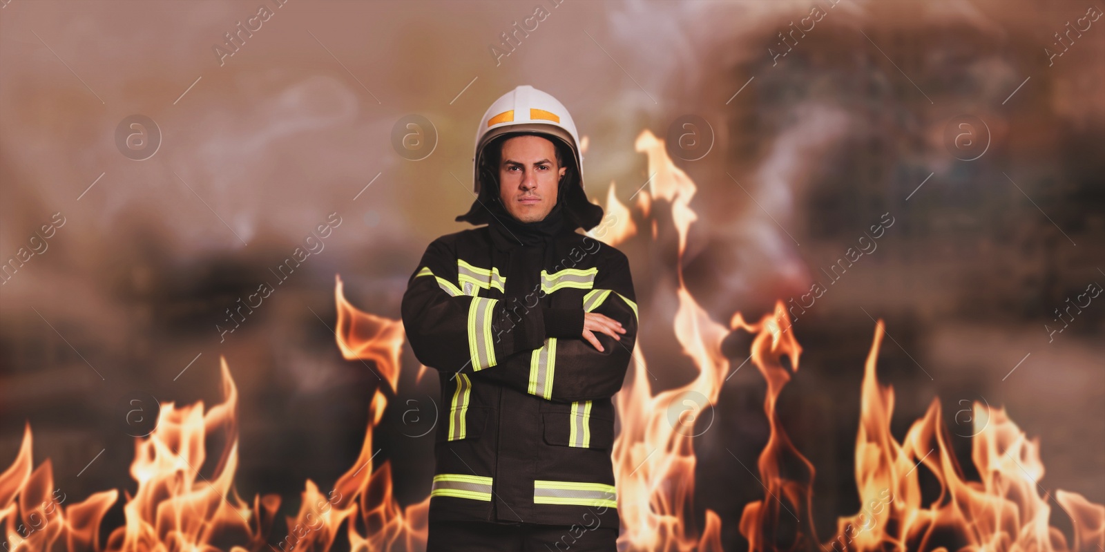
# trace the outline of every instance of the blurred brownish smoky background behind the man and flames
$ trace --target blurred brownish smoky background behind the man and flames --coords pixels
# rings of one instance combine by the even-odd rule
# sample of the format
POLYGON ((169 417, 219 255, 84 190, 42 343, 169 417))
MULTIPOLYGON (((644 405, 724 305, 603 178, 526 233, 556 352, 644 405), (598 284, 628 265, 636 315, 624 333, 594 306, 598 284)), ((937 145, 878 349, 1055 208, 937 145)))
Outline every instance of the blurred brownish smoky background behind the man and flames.
MULTIPOLYGON (((617 247, 653 392, 697 374, 673 331, 676 264, 718 324, 804 306, 791 311, 801 368, 778 412, 817 467, 819 534, 860 507, 853 451, 878 319, 898 439, 937 400, 977 479, 964 410, 1004 407, 1039 439, 1041 494, 1105 502, 1105 298, 1091 292, 1105 284, 1103 12, 1081 0, 4 0, 0 471, 29 424, 34 465, 49 459, 71 501, 134 493, 135 437, 156 419, 134 410, 221 403, 224 357, 238 492, 278 494, 283 519, 306 479, 329 489, 387 387, 335 344, 335 277, 358 310, 399 319, 425 246, 467 227, 453 218, 473 200, 481 115, 532 84, 586 136, 588 195, 636 222, 617 247), (682 257, 664 204, 640 204, 655 189, 643 133, 697 187, 682 257), (264 285, 260 306, 228 320, 264 285)), ((749 342, 726 340, 733 367, 749 342)), ((406 506, 429 492, 439 389, 409 348, 401 361, 375 444, 406 506)), ((740 514, 765 496, 765 392, 740 369, 699 413, 712 425, 694 438, 692 515, 717 512, 724 550, 748 548, 740 514)))

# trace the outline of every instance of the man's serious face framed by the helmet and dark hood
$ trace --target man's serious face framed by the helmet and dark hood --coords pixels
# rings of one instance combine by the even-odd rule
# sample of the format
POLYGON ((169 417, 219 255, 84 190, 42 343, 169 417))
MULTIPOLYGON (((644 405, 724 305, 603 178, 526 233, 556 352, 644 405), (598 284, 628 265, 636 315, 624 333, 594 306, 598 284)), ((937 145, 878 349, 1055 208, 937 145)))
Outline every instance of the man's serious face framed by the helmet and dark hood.
POLYGON ((557 189, 567 167, 556 159, 548 138, 515 136, 503 143, 498 165, 498 199, 522 222, 544 220, 557 201, 557 189))

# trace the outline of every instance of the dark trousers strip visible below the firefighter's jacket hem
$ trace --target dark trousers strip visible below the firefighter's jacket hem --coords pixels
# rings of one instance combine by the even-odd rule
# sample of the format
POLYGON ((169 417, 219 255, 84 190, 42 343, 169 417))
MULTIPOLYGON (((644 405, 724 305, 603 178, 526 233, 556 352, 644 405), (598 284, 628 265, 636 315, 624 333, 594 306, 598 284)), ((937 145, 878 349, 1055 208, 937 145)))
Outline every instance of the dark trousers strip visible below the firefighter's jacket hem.
POLYGON ((618 530, 583 525, 432 521, 425 552, 617 552, 618 530))

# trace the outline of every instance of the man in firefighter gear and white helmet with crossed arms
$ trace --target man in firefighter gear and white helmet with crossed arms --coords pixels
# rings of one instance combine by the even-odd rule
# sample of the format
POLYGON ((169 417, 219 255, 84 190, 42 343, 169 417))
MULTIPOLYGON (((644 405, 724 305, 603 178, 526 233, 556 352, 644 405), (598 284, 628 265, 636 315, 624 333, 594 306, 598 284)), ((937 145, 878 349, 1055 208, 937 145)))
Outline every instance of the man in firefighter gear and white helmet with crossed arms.
POLYGON ((576 125, 518 86, 476 133, 476 200, 408 282, 402 320, 436 368, 428 552, 617 550, 614 408, 636 341, 621 251, 577 232, 602 219, 583 191, 576 125))

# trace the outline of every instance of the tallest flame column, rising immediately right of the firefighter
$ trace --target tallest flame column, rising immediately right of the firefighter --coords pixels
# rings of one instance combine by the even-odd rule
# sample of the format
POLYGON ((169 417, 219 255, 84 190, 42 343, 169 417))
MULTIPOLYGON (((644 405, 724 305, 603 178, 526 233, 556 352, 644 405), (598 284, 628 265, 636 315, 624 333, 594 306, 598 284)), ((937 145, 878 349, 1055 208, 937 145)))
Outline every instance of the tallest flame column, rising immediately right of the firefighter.
MULTIPOLYGON (((636 149, 646 152, 649 173, 653 175, 650 191, 642 190, 641 195, 671 202, 682 261, 686 232, 696 218, 688 207, 694 183, 672 164, 663 142, 652 133, 645 131, 638 137, 636 149)), ((651 199, 646 201, 651 205, 651 199)), ((698 376, 687 385, 653 395, 648 365, 638 350, 631 379, 614 396, 621 423, 612 451, 623 525, 618 543, 624 550, 722 550, 722 524, 715 512, 707 510, 701 535, 691 523, 695 454, 694 434, 688 428, 693 429, 697 416, 717 402, 729 369, 722 353, 722 341, 728 332, 691 296, 683 284, 682 262, 676 267, 675 336, 698 367, 698 376), (677 414, 674 423, 672 413, 677 414), (688 414, 690 419, 683 414, 688 414)))

